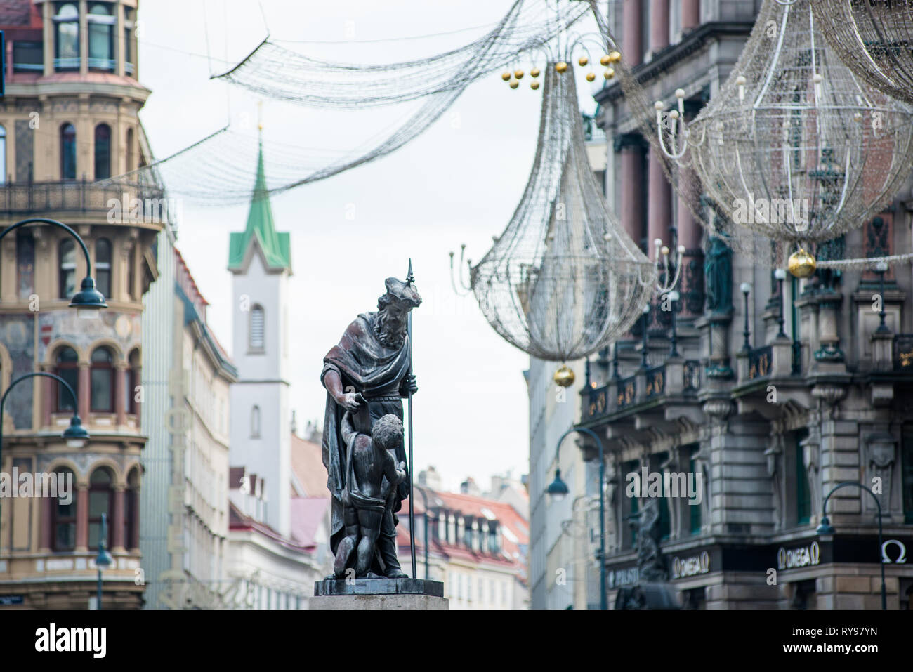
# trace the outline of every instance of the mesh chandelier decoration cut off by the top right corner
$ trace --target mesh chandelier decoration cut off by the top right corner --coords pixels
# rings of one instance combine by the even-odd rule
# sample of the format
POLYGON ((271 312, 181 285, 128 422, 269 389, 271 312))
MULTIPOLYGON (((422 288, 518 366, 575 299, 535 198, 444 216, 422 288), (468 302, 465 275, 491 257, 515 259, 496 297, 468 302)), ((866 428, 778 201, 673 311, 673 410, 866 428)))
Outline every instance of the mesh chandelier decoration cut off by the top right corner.
POLYGON ((913 0, 815 0, 812 10, 846 66, 913 104, 913 0))

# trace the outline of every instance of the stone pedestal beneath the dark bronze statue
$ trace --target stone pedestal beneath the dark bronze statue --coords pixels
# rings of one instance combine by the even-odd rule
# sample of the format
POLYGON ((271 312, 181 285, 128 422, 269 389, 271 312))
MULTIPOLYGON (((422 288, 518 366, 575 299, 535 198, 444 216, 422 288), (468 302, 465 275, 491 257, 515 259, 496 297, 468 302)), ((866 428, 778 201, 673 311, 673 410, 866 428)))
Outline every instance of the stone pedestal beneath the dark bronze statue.
POLYGON ((425 579, 325 579, 311 609, 448 609, 444 583, 425 579))

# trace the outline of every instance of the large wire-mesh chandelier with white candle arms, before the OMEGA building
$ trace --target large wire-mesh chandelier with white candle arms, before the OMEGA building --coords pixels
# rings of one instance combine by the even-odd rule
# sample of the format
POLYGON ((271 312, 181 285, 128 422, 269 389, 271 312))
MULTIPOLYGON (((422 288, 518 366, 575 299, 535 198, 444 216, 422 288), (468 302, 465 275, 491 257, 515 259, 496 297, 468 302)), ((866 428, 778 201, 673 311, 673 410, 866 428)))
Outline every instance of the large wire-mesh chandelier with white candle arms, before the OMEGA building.
POLYGON ((913 163, 913 110, 836 58, 809 0, 765 0, 729 79, 687 126, 686 95, 671 111, 656 102, 659 144, 698 174, 722 215, 708 227, 729 240, 754 233, 804 258, 890 203, 913 163))

